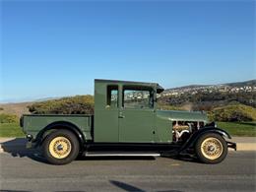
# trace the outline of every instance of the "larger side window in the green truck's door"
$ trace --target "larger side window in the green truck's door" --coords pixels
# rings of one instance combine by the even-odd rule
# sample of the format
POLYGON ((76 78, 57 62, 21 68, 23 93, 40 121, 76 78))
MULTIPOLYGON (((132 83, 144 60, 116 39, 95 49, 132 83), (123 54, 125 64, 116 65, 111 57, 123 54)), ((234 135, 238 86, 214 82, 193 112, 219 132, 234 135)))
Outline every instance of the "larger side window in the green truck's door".
POLYGON ((129 88, 123 89, 124 108, 153 108, 154 95, 150 88, 129 88))

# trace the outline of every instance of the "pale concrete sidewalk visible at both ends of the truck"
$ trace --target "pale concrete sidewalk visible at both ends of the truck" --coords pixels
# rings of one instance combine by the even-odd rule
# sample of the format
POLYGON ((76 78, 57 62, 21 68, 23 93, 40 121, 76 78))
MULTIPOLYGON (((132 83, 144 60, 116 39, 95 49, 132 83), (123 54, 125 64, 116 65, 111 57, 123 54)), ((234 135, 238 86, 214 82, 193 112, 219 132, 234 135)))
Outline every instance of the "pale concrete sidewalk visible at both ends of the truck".
MULTIPOLYGON (((256 137, 233 137, 230 141, 236 143, 237 151, 256 151, 256 137)), ((28 151, 26 143, 24 138, 0 138, 0 153, 28 151)))

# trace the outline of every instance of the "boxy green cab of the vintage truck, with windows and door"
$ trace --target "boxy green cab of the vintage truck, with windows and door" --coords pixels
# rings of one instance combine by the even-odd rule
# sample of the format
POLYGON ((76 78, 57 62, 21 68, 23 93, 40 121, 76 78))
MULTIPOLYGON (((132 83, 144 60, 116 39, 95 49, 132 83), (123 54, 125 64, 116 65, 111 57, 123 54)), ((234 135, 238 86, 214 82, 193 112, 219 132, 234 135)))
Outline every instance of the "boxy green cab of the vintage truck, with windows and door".
POLYGON ((95 86, 95 142, 156 142, 158 84, 96 80, 95 86))

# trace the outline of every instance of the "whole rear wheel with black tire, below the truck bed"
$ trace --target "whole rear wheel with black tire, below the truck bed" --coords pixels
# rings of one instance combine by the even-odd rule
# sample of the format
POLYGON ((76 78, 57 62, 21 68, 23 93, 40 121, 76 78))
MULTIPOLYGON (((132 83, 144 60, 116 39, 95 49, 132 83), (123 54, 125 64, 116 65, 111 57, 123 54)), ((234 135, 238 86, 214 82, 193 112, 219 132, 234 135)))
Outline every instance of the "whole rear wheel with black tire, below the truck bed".
POLYGON ((70 131, 60 129, 50 133, 42 144, 43 156, 53 164, 66 164, 79 154, 79 142, 70 131))

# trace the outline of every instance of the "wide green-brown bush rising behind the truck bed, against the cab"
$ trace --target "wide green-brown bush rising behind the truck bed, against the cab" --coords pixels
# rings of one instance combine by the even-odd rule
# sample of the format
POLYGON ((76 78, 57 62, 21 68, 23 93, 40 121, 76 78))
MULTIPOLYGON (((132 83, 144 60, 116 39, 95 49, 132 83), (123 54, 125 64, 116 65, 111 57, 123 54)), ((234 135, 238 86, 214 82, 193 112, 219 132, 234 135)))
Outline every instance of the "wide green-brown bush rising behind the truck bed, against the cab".
POLYGON ((34 114, 93 114, 94 96, 70 96, 29 105, 34 114))

